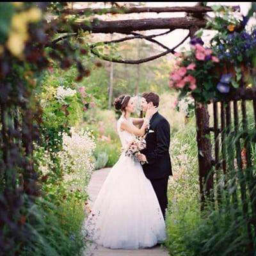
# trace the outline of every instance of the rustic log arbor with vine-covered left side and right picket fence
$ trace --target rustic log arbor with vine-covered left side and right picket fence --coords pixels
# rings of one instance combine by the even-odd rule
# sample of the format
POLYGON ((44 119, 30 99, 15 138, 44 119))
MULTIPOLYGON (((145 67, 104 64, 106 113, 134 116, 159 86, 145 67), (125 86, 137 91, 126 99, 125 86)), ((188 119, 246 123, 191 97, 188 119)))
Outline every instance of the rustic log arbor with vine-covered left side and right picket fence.
MULTIPOLYGON (((233 7, 234 10, 239 10, 239 6, 233 7)), ((199 28, 204 28, 206 24, 205 13, 212 12, 212 9, 208 6, 198 4, 194 7, 166 7, 166 8, 120 8, 120 6, 102 9, 83 9, 83 10, 62 10, 61 22, 59 20, 52 20, 49 27, 49 37, 57 33, 58 38, 49 42, 49 38, 44 35, 44 31, 39 31, 38 28, 31 29, 29 31, 31 40, 27 45, 29 51, 27 54, 27 61, 29 61, 33 67, 26 68, 26 82, 22 80, 23 74, 15 77, 14 83, 9 83, 8 76, 13 74, 19 74, 19 70, 15 70, 15 67, 21 66, 20 62, 17 65, 17 61, 13 61, 10 52, 4 53, 5 57, 1 56, 0 78, 3 80, 0 83, 0 112, 1 112, 1 136, 0 141, 2 143, 3 154, 1 157, 0 165, 0 188, 3 194, 0 195, 0 226, 3 227, 5 223, 10 224, 12 227, 10 232, 10 239, 6 242, 3 236, 0 236, 0 245, 4 250, 12 248, 13 237, 22 237, 24 232, 17 232, 22 230, 24 225, 24 216, 20 216, 20 205, 24 204, 22 201, 22 193, 28 196, 39 195, 40 189, 36 186, 37 175, 33 168, 33 140, 38 139, 38 130, 33 126, 33 118, 36 118, 38 123, 42 122, 42 109, 38 108, 37 113, 33 112, 33 104, 30 100, 33 96, 33 86, 35 83, 33 78, 36 76, 36 72, 47 67, 47 60, 44 54, 44 47, 51 47, 56 51, 50 51, 50 56, 57 61, 60 61, 60 52, 66 49, 63 54, 64 60, 61 63, 61 67, 68 68, 71 65, 70 59, 65 60, 68 56, 72 56, 73 49, 70 47, 65 39, 79 34, 81 29, 83 31, 91 31, 92 33, 120 33, 124 34, 124 38, 103 42, 104 44, 111 44, 112 42, 124 42, 126 40, 132 40, 135 38, 141 38, 148 40, 154 44, 158 44, 163 47, 164 51, 156 56, 150 56, 142 60, 120 60, 109 58, 109 56, 101 56, 96 51, 97 44, 90 45, 90 51, 102 58, 102 60, 113 61, 116 63, 127 64, 140 64, 146 61, 155 60, 165 54, 174 53, 175 49, 182 44, 189 36, 194 37, 195 31, 199 28), (76 14, 80 17, 85 13, 142 13, 142 12, 186 12, 186 17, 183 18, 168 18, 168 19, 139 19, 139 20, 115 20, 115 21, 102 21, 99 19, 93 19, 92 22, 74 22, 64 26, 66 15, 76 14), (71 29, 70 29, 71 28, 71 29), (167 29, 167 31, 158 35, 141 35, 135 31, 145 31, 148 29, 167 29), (161 44, 155 38, 159 35, 172 32, 174 29, 188 29, 188 35, 178 44, 172 48, 161 44), (41 33, 42 32, 42 33, 41 33), (65 42, 65 45, 61 43, 65 42), (64 50, 63 50, 64 49, 64 50), (44 56, 44 58, 42 58, 44 56), (4 60, 5 58, 5 60, 4 60), (8 62, 11 68, 6 67, 8 62), (15 65, 13 65, 13 63, 15 65), (36 67, 35 67, 36 66, 36 67), (36 70, 35 74, 31 72, 33 68, 36 70), (12 73, 12 74, 11 74, 12 73), (8 82, 8 83, 7 83, 8 82), (13 100, 12 100, 13 99, 13 100), (14 159, 14 162, 13 162, 14 159), (22 173, 20 177, 17 177, 17 173, 22 173), (20 180, 19 180, 20 179, 20 180), (20 183, 20 186, 17 186, 20 183), (3 189, 2 189, 3 188, 3 189), (19 188, 19 189, 17 189, 19 188), (23 190, 22 190, 23 189, 23 190), (21 191, 22 190, 22 191, 21 191), (2 196, 3 195, 3 196, 2 196), (18 221, 17 225, 13 225, 15 221, 18 221)), ((33 28, 33 27, 32 27, 33 28)), ((72 59, 77 64, 81 77, 84 73, 81 63, 72 59)), ((253 174, 253 154, 252 145, 255 143, 255 127, 256 127, 256 90, 244 88, 244 81, 240 84, 240 88, 229 93, 224 100, 219 100, 213 103, 214 111, 214 125, 209 125, 209 111, 207 104, 203 104, 199 107, 196 105, 196 140, 198 142, 198 162, 199 162, 199 180, 200 180, 200 195, 202 202, 205 202, 207 197, 211 199, 212 190, 214 189, 214 179, 216 177, 218 183, 218 177, 220 173, 227 174, 227 177, 232 177, 230 170, 234 169, 234 164, 238 166, 239 175, 242 179, 239 181, 239 188, 241 188, 241 200, 245 202, 243 204, 243 212, 246 215, 248 212, 253 212, 253 216, 256 215, 256 192, 255 192, 255 174, 253 174), (250 100, 253 104, 255 127, 248 127, 248 120, 246 116, 247 102, 250 100), (239 115, 238 104, 241 104, 241 114, 239 115), (220 113, 218 109, 220 108, 220 113), (232 111, 233 109, 233 111, 232 111), (232 114, 233 113, 233 114, 232 114), (233 116, 232 116, 233 115, 233 116), (243 126, 239 127, 239 118, 242 120, 243 126), (220 119, 220 122, 219 122, 220 119), (233 124, 233 125, 231 125, 233 124), (213 136, 211 136, 213 132, 213 136), (210 135, 210 136, 209 136, 210 135), (212 142, 211 138, 214 138, 212 142), (234 138, 236 147, 227 148, 227 142, 230 138, 234 138), (214 154, 212 154, 212 145, 214 145, 214 154), (241 151, 244 154, 241 156, 241 151), (229 154, 227 154, 227 152, 229 154), (244 159, 243 159, 244 156, 244 159), (236 161, 235 161, 236 159, 236 161), (214 175, 215 174, 215 175, 214 175), (253 184, 254 182, 254 184, 253 184), (248 201, 247 199, 248 198, 248 201), (250 204, 246 204, 250 202, 250 204)), ((233 179, 233 182, 237 182, 233 179)), ((227 188, 226 185, 224 189, 227 188)), ((236 190, 232 192, 232 202, 240 200, 236 194, 236 190)), ((217 197, 217 202, 220 202, 221 198, 217 197)), ((204 204, 202 204, 204 207, 204 204)), ((32 220, 33 221, 33 220, 32 220)), ((250 238, 253 232, 255 232, 255 220, 249 220, 248 234, 250 238)), ((255 236, 255 235, 254 235, 255 236)), ((5 252, 5 251, 4 251, 5 252)), ((1 253, 0 253, 1 254, 1 253)))

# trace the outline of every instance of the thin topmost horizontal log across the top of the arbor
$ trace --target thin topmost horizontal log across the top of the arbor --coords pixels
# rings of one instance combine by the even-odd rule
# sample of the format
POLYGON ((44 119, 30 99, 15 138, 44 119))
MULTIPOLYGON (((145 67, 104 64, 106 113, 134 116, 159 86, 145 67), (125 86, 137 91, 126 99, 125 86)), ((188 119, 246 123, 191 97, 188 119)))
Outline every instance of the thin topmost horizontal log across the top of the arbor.
MULTIPOLYGON (((239 10, 240 6, 232 6, 232 10, 239 10)), ((205 12, 212 12, 212 8, 210 6, 175 6, 175 7, 130 7, 130 8, 83 8, 83 9, 65 9, 63 13, 67 14, 79 14, 84 15, 88 14, 105 14, 105 13, 112 13, 112 14, 126 14, 126 13, 143 13, 143 12, 187 12, 187 13, 205 13, 205 12)))

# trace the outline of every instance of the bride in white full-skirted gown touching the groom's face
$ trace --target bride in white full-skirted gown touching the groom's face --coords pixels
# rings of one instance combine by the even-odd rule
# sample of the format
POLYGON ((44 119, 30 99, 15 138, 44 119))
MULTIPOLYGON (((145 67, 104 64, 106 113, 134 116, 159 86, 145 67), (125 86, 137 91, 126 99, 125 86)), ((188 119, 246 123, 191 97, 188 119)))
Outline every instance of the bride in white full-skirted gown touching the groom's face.
MULTIPOLYGON (((131 118, 134 101, 129 95, 115 99, 122 111, 117 131, 125 149, 134 136, 143 136, 156 109, 145 118, 131 118), (142 124, 139 129, 135 125, 142 124)), ((166 239, 165 223, 156 194, 139 162, 123 151, 105 180, 92 212, 84 223, 86 236, 106 248, 147 248, 166 239)))

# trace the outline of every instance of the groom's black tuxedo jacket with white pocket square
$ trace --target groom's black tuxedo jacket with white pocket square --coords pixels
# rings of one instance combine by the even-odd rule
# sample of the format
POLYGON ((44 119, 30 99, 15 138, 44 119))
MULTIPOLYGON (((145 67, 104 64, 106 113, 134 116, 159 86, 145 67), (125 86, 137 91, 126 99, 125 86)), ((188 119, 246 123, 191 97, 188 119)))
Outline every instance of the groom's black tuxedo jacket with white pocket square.
POLYGON ((150 120, 150 127, 146 134, 146 148, 141 153, 147 157, 142 165, 145 176, 150 179, 163 179, 172 175, 172 164, 169 154, 170 124, 158 112, 150 120))

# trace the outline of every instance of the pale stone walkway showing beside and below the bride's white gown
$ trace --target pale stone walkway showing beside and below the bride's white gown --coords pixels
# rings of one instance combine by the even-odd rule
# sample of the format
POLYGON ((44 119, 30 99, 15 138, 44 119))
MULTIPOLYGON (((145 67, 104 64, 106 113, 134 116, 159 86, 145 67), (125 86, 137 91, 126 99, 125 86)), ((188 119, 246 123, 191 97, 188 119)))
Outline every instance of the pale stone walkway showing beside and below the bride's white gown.
MULTIPOLYGON (((92 179, 90 181, 90 184, 88 186, 88 193, 90 195, 90 198, 92 202, 90 202, 90 205, 92 207, 93 202, 97 198, 97 195, 100 191, 100 188, 108 176, 109 170, 111 168, 104 168, 101 170, 97 170, 93 172, 92 179)), ((88 255, 88 253, 84 253, 84 256, 88 255)), ((90 255, 90 253, 89 253, 90 255)), ((168 256, 167 250, 164 250, 164 248, 161 248, 161 246, 154 246, 152 248, 148 249, 138 249, 138 250, 111 250, 108 248, 104 248, 102 246, 97 246, 97 248, 92 249, 93 256, 168 256)))

